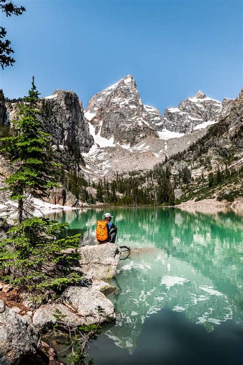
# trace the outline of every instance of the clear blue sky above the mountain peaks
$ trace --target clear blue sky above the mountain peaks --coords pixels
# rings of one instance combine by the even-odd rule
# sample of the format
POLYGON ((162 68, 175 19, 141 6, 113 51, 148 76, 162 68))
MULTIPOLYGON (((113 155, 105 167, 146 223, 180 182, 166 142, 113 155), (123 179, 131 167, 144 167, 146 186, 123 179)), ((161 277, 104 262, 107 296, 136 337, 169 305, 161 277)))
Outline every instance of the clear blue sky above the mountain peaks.
POLYGON ((15 50, 1 71, 10 98, 32 75, 42 96, 74 90, 84 106, 127 74, 141 99, 167 106, 204 91, 222 100, 242 86, 242 2, 237 0, 23 0, 21 16, 1 16, 15 50))

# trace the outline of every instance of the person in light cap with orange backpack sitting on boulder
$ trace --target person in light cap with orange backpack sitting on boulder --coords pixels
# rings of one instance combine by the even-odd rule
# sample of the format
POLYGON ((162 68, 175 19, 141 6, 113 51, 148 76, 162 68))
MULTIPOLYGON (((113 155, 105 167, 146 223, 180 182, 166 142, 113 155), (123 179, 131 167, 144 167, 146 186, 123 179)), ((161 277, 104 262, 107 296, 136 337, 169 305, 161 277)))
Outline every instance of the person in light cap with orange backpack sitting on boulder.
POLYGON ((106 213, 104 221, 97 221, 96 238, 98 244, 115 243, 117 227, 111 222, 112 218, 110 213, 106 213))

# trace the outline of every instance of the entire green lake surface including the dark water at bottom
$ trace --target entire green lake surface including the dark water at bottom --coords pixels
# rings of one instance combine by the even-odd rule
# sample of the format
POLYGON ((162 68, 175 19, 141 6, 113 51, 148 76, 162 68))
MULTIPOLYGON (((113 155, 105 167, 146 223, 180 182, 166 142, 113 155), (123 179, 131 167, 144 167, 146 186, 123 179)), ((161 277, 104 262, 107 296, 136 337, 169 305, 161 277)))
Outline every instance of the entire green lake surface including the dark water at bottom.
MULTIPOLYGON (((242 215, 111 208, 117 245, 133 248, 113 279, 117 319, 90 344, 95 365, 243 362, 242 215)), ((53 213, 95 244, 104 209, 53 213)))

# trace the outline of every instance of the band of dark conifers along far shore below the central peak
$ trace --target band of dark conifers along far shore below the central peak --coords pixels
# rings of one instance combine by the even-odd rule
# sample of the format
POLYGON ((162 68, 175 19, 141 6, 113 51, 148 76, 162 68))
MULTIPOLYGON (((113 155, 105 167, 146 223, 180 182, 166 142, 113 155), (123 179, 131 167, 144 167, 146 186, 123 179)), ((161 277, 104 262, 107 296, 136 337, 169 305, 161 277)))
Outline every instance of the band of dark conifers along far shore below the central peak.
POLYGON ((170 182, 170 171, 156 168, 147 174, 124 177, 117 174, 113 181, 100 179, 98 182, 86 180, 83 173, 63 170, 60 182, 77 199, 90 204, 96 202, 107 205, 174 205, 175 196, 170 182), (94 190, 95 189, 95 190, 94 190), (96 191, 92 194, 92 191, 96 191))

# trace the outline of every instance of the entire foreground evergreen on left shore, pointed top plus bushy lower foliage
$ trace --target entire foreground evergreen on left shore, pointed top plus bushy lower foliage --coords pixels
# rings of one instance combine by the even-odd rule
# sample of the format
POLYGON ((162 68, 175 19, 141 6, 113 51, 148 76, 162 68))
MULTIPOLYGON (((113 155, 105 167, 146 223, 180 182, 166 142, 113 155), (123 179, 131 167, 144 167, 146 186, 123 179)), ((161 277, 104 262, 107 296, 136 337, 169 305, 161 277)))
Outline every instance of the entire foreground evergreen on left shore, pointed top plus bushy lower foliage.
POLYGON ((1 140, 3 152, 14 165, 6 183, 11 199, 18 201, 18 224, 0 242, 0 272, 4 281, 33 292, 35 299, 39 295, 47 301, 68 285, 79 283, 82 274, 72 268, 80 255, 75 250, 63 253, 66 248, 78 246, 80 235, 58 239, 67 223, 36 217, 25 219, 29 212, 24 200, 28 196, 43 198, 49 187, 57 186, 57 164, 53 161, 49 135, 42 130, 37 102, 33 78, 25 103, 18 107, 20 118, 14 121, 11 136, 1 140))

